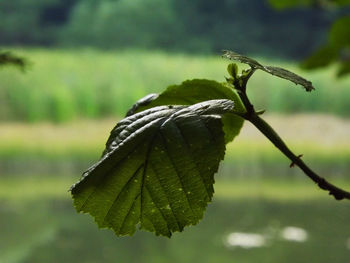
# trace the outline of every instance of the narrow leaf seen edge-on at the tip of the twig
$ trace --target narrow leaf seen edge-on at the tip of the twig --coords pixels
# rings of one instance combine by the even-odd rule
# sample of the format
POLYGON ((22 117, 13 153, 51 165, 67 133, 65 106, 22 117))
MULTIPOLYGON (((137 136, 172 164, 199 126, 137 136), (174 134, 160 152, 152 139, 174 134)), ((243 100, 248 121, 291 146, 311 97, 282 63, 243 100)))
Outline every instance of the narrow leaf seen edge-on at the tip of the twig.
POLYGON ((304 79, 303 77, 293 72, 290 72, 289 70, 273 66, 264 66, 254 59, 237 54, 229 50, 224 50, 223 57, 231 60, 240 61, 241 63, 248 64, 251 68, 260 69, 276 77, 292 81, 297 85, 299 84, 303 86, 306 91, 312 91, 315 89, 310 81, 304 79))

